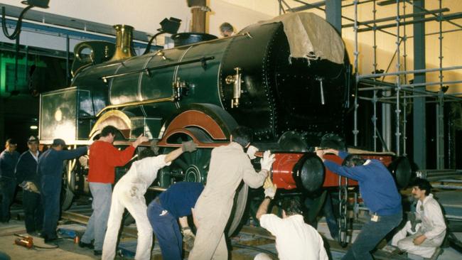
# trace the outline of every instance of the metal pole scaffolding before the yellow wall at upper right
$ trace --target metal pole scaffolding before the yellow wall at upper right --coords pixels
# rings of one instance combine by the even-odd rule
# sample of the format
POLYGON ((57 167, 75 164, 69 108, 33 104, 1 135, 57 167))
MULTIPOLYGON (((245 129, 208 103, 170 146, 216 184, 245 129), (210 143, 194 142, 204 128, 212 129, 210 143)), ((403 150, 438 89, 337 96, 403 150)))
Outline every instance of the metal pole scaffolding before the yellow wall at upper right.
MULTIPOLYGON (((322 6, 326 6, 326 1, 316 1, 307 3, 306 1, 294 0, 297 3, 303 4, 302 6, 289 7, 284 0, 279 1, 279 13, 285 13, 286 11, 302 11, 307 9, 318 9, 323 10, 322 6), (285 7, 284 7, 285 6, 285 7), (286 9, 284 9, 286 8, 286 9)), ((394 112, 394 152, 398 156, 407 155, 407 109, 408 104, 413 104, 416 98, 426 98, 426 103, 436 104, 436 168, 444 168, 445 160, 445 148, 444 148, 444 104, 446 102, 461 102, 462 99, 459 96, 462 93, 445 94, 448 85, 462 83, 462 80, 444 81, 444 71, 448 70, 462 70, 462 65, 443 67, 444 53, 443 53, 443 39, 444 33, 453 33, 462 30, 462 26, 454 21, 453 19, 462 18, 462 12, 452 12, 450 9, 444 7, 444 0, 439 0, 438 9, 428 10, 423 4, 418 3, 419 0, 352 0, 342 1, 342 8, 353 6, 354 17, 348 18, 338 13, 338 16, 345 18, 352 23, 343 24, 342 28, 353 28, 354 31, 354 73, 358 87, 358 94, 355 94, 354 102, 354 122, 353 122, 353 136, 354 145, 358 146, 358 136, 360 131, 358 129, 358 110, 360 109, 358 100, 367 100, 372 102, 373 115, 371 118, 374 134, 372 136, 372 143, 374 151, 377 151, 377 139, 382 139, 378 127, 378 106, 382 106, 382 136, 388 136, 388 142, 382 141, 382 148, 388 150, 388 146, 391 144, 392 129, 390 128, 390 118, 394 112), (390 4, 396 5, 396 15, 377 18, 377 13, 383 6, 390 4), (368 21, 358 21, 358 6, 361 5, 361 10, 372 9, 372 19, 368 21), (411 7, 410 11, 407 8, 411 7), (426 17, 427 16, 427 17, 426 17), (431 33, 421 33, 421 37, 438 35, 439 39, 439 67, 419 70, 408 70, 407 65, 407 40, 414 38, 413 36, 407 36, 406 26, 407 25, 423 25, 428 22, 439 23, 439 31, 431 33), (387 23, 389 22, 389 23, 387 23), (385 24, 383 24, 385 23, 385 24), (453 30, 443 30, 443 23, 451 23, 456 26, 453 30), (390 31, 385 31, 389 28, 390 31), (391 32, 394 28, 394 32, 391 32), (372 74, 360 74, 359 63, 360 53, 358 48, 358 36, 362 32, 372 31, 372 74), (377 65, 377 33, 387 33, 395 38, 395 51, 390 64, 387 66, 385 72, 379 71, 377 65), (389 72, 392 63, 396 67, 396 72, 389 72), (438 72, 439 80, 435 82, 408 82, 408 75, 414 74, 414 78, 417 75, 425 75, 427 72, 438 72), (394 82, 386 82, 385 77, 395 77, 394 82), (439 85, 438 92, 432 92, 426 90, 428 86, 439 85), (372 91, 372 98, 362 93, 372 91), (380 94, 382 94, 380 97, 380 94), (392 108, 394 111, 392 112, 392 108), (388 144, 387 144, 388 143, 388 144)), ((414 31, 415 34, 415 31, 414 31)), ((414 41, 415 42, 415 41, 414 41)), ((414 55, 415 58, 415 55, 414 55)), ((415 67, 415 64, 414 64, 415 67)), ((414 110, 415 112, 415 110, 414 110)), ((423 111, 425 113, 425 111, 423 111)), ((415 119, 414 119, 415 120, 415 119)), ((414 148, 415 150, 415 148, 414 148)), ((415 151, 414 151, 415 152, 415 151)), ((420 151, 419 151, 420 152, 420 151)))

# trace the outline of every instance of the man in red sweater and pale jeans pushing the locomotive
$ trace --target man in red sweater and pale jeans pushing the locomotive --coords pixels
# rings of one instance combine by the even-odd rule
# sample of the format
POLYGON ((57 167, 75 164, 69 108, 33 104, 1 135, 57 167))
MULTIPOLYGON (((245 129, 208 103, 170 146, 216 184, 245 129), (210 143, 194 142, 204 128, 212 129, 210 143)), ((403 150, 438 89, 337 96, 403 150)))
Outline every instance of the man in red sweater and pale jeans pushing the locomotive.
POLYGON ((90 146, 90 159, 88 172, 88 182, 90 182, 90 192, 93 196, 93 213, 87 224, 87 230, 80 239, 79 246, 95 249, 95 255, 102 254, 102 244, 104 234, 106 234, 107 219, 112 197, 112 184, 114 184, 115 168, 127 164, 137 146, 140 143, 149 141, 146 136, 139 136, 136 141, 131 143, 122 151, 117 150, 112 145, 117 132, 114 126, 104 126, 99 140, 90 146), (95 243, 92 244, 92 239, 95 243))

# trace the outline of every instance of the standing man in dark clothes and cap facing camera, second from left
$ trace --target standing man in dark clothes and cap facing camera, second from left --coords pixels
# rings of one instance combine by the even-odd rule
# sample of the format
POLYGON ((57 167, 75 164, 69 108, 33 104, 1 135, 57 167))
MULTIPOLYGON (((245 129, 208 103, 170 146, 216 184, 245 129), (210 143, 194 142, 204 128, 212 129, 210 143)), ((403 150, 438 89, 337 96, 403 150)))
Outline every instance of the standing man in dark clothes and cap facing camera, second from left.
POLYGON ((43 223, 43 207, 40 192, 38 192, 37 164, 38 156, 38 139, 31 136, 27 139, 28 151, 19 156, 16 164, 16 182, 23 187, 23 210, 24 223, 28 234, 41 232, 43 223))

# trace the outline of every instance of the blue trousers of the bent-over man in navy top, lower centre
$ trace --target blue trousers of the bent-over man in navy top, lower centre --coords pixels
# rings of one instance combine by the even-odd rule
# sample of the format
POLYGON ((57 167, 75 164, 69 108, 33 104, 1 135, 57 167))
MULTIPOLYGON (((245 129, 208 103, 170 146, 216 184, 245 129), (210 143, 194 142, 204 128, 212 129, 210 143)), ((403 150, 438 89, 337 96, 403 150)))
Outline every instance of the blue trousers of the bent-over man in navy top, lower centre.
POLYGON ((154 200, 148 207, 148 218, 162 251, 162 259, 182 259, 183 238, 176 217, 154 200))

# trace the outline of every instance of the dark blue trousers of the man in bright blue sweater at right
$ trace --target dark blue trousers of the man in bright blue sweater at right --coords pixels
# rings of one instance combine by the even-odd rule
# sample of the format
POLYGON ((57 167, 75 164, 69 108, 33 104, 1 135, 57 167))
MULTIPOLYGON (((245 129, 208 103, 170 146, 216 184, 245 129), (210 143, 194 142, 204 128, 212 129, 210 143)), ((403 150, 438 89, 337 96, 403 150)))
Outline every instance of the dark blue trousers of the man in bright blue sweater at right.
POLYGON ((342 260, 358 259, 372 260, 370 251, 375 249, 375 246, 390 233, 402 220, 402 212, 390 216, 380 216, 380 220, 373 222, 368 220, 362 226, 360 234, 356 238, 353 246, 343 256, 342 260))

